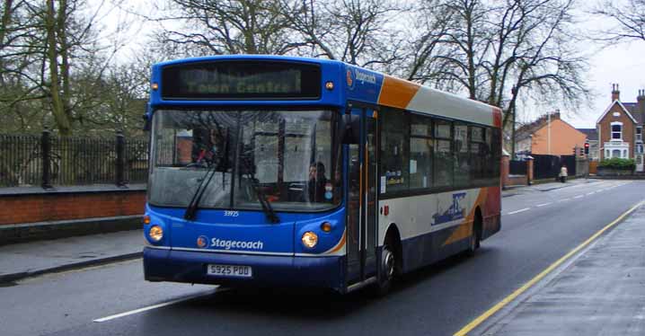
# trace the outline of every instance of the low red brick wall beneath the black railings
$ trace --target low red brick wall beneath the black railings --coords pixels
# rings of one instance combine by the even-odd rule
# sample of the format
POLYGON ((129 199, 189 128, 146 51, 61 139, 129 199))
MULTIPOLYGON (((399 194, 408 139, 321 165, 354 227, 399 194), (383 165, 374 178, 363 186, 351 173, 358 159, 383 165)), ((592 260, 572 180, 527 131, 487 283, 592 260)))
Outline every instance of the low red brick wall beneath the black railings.
POLYGON ((141 215, 145 203, 145 190, 3 195, 0 225, 141 215))

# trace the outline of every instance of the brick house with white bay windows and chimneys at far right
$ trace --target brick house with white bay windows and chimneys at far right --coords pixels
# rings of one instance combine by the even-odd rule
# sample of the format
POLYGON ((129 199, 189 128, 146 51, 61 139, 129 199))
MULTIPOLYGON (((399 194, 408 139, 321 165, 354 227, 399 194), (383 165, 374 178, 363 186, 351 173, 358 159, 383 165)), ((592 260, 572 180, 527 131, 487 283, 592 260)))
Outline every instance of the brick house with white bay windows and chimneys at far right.
POLYGON ((618 84, 613 84, 612 102, 596 121, 599 157, 635 159, 642 172, 645 90, 639 90, 637 102, 621 102, 620 94, 618 84))

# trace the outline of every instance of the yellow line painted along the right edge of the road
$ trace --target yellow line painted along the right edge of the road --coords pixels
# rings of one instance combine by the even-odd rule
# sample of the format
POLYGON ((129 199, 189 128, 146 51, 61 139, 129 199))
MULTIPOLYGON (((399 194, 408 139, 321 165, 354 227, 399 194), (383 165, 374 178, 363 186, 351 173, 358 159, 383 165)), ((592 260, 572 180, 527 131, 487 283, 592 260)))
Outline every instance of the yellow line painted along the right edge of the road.
POLYGON ((567 261, 571 256, 579 252, 580 250, 584 249, 589 243, 593 242, 596 240, 600 234, 603 234, 605 231, 609 230, 612 228, 612 226, 620 223, 620 221, 623 220, 624 217, 627 217, 629 214, 631 214, 636 208, 641 207, 641 205, 645 204, 645 200, 639 202, 629 210, 625 211, 623 215, 620 217, 616 218, 613 222, 609 223, 600 231, 596 232, 596 234, 592 235, 589 237, 588 240, 586 240, 584 243, 580 243, 578 247, 575 249, 571 250, 569 253, 565 254, 562 258, 560 258, 558 261, 555 261, 551 264, 551 266, 547 267, 546 270, 543 270, 540 274, 536 275, 535 278, 530 279, 524 286, 517 288, 515 292, 513 292, 511 295, 504 297, 503 300, 499 301, 497 305, 493 305, 490 307, 489 310, 487 310, 484 314, 481 314, 479 317, 473 320, 473 322, 468 323, 462 328, 459 332, 455 332, 454 336, 464 336, 468 334, 468 332, 472 332, 473 329, 475 329, 478 325, 482 324, 486 319, 488 319, 490 316, 493 314, 499 312, 500 309, 502 309, 505 305, 508 305, 511 301, 515 300, 517 296, 520 296, 522 293, 526 292, 526 289, 533 287, 538 281, 543 279, 547 274, 551 273, 552 270, 555 270, 558 266, 560 266, 564 261, 567 261))

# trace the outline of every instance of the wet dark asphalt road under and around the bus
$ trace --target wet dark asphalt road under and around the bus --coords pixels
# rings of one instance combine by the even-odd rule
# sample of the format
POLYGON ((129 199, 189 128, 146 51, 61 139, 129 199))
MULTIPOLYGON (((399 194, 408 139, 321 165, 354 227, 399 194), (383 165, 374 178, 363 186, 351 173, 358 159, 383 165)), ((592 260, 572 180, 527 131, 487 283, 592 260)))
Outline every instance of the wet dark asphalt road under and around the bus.
POLYGON ((417 271, 383 298, 147 283, 141 261, 128 261, 0 287, 0 333, 450 335, 644 199, 645 181, 551 183, 507 195, 501 232, 474 257, 417 271))

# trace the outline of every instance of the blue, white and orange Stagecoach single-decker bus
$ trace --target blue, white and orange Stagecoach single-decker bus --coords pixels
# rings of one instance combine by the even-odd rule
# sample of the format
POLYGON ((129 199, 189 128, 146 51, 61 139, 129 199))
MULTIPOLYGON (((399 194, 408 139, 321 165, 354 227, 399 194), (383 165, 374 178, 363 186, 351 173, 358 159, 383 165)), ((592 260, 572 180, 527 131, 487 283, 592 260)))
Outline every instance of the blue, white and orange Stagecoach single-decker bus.
POLYGON ((156 64, 146 280, 384 293, 500 227, 501 111, 313 58, 156 64))

